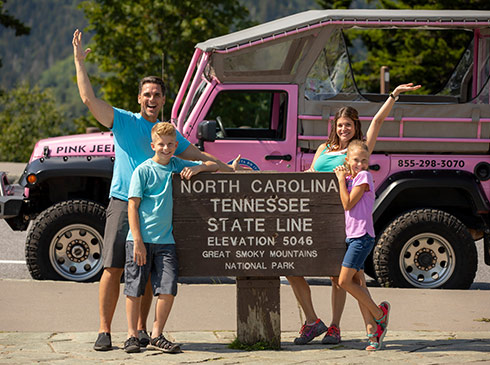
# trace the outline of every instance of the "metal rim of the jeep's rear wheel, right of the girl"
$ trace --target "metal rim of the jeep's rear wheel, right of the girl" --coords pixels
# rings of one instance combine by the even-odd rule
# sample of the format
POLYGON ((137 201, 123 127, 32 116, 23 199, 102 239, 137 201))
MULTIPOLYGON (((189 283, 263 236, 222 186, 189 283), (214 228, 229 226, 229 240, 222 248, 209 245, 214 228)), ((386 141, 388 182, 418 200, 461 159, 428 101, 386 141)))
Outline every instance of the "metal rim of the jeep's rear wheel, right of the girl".
POLYGON ((405 243, 400 252, 403 277, 418 288, 437 288, 453 274, 456 255, 442 236, 422 233, 405 243))

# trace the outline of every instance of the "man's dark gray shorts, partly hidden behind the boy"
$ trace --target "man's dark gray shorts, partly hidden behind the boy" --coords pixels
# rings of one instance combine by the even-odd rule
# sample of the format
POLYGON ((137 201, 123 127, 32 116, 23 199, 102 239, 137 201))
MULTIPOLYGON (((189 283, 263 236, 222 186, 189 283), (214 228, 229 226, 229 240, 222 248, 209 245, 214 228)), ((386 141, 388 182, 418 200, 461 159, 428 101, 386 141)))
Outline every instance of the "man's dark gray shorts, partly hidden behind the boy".
POLYGON ((104 247, 102 248, 104 268, 124 268, 128 231, 128 202, 111 198, 106 210, 104 247))

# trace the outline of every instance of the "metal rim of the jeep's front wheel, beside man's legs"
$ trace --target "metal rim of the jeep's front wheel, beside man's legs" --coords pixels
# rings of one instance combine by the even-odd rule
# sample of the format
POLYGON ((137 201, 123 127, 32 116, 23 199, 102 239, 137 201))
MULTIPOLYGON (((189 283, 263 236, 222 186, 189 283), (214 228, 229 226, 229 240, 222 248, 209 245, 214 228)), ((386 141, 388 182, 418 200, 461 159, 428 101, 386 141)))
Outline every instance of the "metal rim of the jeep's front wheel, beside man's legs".
POLYGON ((90 279, 102 268, 102 236, 85 224, 66 226, 51 240, 49 260, 67 280, 90 279))

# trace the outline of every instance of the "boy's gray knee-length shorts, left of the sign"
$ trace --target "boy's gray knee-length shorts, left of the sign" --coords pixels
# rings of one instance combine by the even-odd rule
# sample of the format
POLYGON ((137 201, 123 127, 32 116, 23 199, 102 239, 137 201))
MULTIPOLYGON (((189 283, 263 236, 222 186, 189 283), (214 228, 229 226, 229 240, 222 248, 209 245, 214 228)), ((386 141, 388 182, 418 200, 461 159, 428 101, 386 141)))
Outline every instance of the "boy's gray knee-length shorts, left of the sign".
POLYGON ((134 242, 126 242, 124 294, 130 297, 142 296, 145 293, 148 277, 151 277, 153 295, 177 295, 179 265, 175 245, 145 243, 145 248, 146 264, 138 266, 134 261, 134 242))

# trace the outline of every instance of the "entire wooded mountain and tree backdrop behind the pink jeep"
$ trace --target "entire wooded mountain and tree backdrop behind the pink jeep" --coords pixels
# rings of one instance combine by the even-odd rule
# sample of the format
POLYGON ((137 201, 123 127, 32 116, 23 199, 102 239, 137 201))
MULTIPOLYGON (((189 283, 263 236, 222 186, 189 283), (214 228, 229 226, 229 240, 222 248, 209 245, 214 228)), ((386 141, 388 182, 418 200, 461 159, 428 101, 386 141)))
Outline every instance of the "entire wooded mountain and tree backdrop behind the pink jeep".
MULTIPOLYGON (((97 125, 80 101, 75 83, 71 39, 76 28, 83 30, 85 46, 93 49, 87 61, 99 97, 137 111, 139 78, 161 74, 163 63, 169 114, 196 43, 301 11, 328 8, 489 10, 490 2, 0 0, 0 161, 25 162, 40 138, 83 133, 86 127, 97 125)), ((350 46, 359 35, 352 37, 350 46)), ((423 92, 433 92, 435 81, 452 71, 448 65, 461 57, 470 38, 464 34, 437 40, 401 37, 393 33, 390 39, 363 39, 368 48, 353 65, 361 75, 356 79, 359 89, 379 87, 379 66, 387 65, 393 84, 414 80, 425 85, 423 92), (414 58, 406 51, 422 49, 419 46, 424 42, 436 42, 430 54, 414 58), (394 52, 400 44, 406 47, 394 52), (428 65, 431 69, 437 65, 436 71, 422 75, 428 65)))

